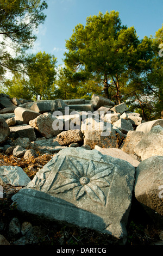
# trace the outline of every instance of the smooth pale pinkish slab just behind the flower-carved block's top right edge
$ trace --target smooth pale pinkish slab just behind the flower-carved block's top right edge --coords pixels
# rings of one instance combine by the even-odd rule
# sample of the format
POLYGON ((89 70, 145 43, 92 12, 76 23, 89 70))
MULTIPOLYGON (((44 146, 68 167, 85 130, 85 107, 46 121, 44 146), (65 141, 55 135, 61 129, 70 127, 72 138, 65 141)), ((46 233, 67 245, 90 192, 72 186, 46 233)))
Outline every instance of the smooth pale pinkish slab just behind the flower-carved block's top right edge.
POLYGON ((127 153, 124 153, 121 149, 116 149, 116 148, 100 148, 97 145, 95 146, 95 149, 101 152, 103 155, 108 155, 112 157, 116 157, 118 159, 122 159, 124 161, 129 162, 132 164, 132 166, 137 167, 140 162, 135 160, 133 157, 128 155, 127 153))

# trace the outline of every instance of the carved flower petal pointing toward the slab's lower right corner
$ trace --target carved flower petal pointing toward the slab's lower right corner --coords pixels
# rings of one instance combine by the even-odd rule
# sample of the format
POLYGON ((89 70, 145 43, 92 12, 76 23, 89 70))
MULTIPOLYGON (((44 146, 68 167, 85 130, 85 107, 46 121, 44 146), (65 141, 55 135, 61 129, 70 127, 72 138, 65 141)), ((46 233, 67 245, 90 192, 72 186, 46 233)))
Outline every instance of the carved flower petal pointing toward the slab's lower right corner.
POLYGON ((84 185, 84 188, 87 196, 89 196, 94 202, 105 205, 105 195, 98 186, 89 183, 89 185, 84 185))

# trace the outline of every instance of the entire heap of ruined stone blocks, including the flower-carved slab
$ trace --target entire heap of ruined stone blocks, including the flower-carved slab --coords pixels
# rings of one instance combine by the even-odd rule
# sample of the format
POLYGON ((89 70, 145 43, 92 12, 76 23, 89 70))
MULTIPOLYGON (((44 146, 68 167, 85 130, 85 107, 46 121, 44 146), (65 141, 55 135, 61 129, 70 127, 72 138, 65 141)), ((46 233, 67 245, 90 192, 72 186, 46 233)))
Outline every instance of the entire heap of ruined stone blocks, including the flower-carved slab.
POLYGON ((1 164, 0 185, 21 187, 12 202, 22 214, 94 229, 125 244, 134 195, 161 227, 163 119, 145 122, 126 103, 96 94, 90 101, 0 94, 0 108, 1 153, 52 154, 33 180, 20 167, 1 164))

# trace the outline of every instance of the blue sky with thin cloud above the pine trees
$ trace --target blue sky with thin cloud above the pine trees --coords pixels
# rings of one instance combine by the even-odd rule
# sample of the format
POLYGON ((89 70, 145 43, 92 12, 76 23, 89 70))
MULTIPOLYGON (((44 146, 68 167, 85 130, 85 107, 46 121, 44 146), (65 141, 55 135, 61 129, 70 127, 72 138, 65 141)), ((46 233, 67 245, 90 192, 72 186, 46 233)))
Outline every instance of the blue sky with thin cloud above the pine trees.
POLYGON ((134 26, 139 39, 155 35, 163 23, 162 0, 47 0, 47 15, 43 25, 36 32, 37 40, 33 53, 45 51, 57 57, 62 65, 65 41, 70 39, 78 23, 85 25, 86 17, 103 14, 106 11, 119 12, 122 25, 134 26))

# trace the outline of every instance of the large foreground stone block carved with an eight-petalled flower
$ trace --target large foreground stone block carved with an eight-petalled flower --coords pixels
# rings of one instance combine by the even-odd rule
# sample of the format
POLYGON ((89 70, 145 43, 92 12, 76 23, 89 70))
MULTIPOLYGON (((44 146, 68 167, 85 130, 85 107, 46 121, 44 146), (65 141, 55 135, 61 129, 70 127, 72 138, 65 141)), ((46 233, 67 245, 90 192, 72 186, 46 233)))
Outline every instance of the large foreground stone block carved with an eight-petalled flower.
POLYGON ((134 175, 127 161, 97 150, 67 148, 12 200, 22 212, 95 229, 125 243, 134 175))

